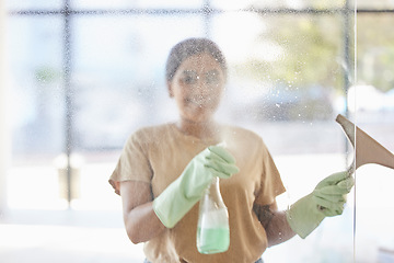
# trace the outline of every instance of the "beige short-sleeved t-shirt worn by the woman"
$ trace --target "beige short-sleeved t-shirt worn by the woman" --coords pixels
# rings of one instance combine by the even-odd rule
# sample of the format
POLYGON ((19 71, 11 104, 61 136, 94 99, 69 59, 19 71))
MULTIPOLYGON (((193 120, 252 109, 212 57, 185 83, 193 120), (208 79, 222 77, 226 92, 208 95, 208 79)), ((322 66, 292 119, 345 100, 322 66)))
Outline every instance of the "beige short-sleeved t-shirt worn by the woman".
MULTIPOLYGON (((198 204, 174 228, 144 244, 153 263, 255 262, 267 248, 267 236, 253 205, 270 205, 285 192, 279 172, 262 138, 239 127, 222 127, 222 141, 235 157, 240 172, 220 181, 220 191, 229 210, 230 248, 218 254, 200 254, 196 247, 198 204)), ((187 163, 210 145, 181 133, 175 124, 147 127, 130 136, 109 183, 118 193, 121 181, 151 184, 153 197, 181 175, 187 163)))

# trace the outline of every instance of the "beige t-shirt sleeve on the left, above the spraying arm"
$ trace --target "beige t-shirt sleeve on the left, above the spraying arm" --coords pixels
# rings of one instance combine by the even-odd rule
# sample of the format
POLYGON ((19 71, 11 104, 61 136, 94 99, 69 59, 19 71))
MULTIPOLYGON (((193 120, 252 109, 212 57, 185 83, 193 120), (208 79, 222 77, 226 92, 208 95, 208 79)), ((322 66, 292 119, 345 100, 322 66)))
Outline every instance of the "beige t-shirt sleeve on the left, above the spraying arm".
POLYGON ((119 183, 123 181, 151 182, 152 169, 148 158, 149 144, 143 138, 142 133, 132 134, 120 153, 115 170, 108 180, 117 194, 120 194, 119 183))

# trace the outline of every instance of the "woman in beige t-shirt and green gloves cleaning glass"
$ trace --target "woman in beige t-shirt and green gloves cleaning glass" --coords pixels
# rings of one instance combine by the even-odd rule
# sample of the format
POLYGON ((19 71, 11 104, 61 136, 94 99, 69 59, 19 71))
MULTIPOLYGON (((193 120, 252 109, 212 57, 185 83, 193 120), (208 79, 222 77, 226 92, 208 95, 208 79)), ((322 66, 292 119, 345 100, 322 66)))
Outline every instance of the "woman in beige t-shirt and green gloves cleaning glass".
POLYGON ((213 42, 175 45, 166 81, 179 118, 132 134, 109 179, 128 237, 144 242, 148 262, 262 262, 267 247, 296 233, 304 238, 325 216, 341 214, 352 186, 346 172, 322 181, 288 211, 277 209, 276 196, 286 190, 262 138, 213 118, 225 80, 225 59, 213 42), (196 248, 197 203, 215 176, 229 210, 230 248, 207 255, 196 248))

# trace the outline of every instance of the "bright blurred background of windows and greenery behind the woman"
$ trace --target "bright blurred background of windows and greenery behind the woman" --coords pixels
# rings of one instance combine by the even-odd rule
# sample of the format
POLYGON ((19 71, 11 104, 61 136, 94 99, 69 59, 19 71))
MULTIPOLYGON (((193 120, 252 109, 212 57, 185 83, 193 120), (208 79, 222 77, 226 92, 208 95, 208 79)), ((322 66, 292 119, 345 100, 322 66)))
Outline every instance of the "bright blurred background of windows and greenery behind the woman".
MULTIPOLYGON (((217 118, 259 134, 286 209, 354 149, 337 114, 394 150, 393 0, 1 0, 0 262, 143 262, 107 183, 137 128, 175 119, 170 48, 219 44, 217 118)), ((368 164, 341 217, 265 262, 394 262, 394 171, 368 164)))

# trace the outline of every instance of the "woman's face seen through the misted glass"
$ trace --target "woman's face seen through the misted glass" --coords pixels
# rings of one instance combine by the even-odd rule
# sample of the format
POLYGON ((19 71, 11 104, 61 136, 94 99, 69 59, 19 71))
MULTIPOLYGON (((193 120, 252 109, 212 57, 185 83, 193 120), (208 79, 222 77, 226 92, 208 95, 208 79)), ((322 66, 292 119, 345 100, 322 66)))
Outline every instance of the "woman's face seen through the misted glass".
POLYGON ((219 106, 225 83, 220 64, 209 54, 197 54, 185 59, 169 82, 181 117, 199 123, 209 121, 219 106))

